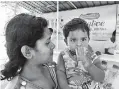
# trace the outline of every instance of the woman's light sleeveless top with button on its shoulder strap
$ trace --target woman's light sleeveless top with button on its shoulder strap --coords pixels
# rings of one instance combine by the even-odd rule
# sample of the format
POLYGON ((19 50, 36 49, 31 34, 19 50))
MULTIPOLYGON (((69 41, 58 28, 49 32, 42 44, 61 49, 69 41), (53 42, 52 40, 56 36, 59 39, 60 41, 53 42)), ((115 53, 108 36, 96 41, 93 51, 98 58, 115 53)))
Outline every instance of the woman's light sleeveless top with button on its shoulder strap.
MULTIPOLYGON (((57 82, 57 76, 56 76, 56 65, 49 66, 47 64, 44 64, 44 66, 46 66, 48 68, 48 70, 50 72, 50 76, 55 83, 54 89, 58 89, 58 82, 57 82)), ((44 88, 42 86, 33 84, 28 79, 19 75, 19 76, 16 76, 15 78, 13 78, 8 83, 8 85, 5 89, 44 89, 44 88)))

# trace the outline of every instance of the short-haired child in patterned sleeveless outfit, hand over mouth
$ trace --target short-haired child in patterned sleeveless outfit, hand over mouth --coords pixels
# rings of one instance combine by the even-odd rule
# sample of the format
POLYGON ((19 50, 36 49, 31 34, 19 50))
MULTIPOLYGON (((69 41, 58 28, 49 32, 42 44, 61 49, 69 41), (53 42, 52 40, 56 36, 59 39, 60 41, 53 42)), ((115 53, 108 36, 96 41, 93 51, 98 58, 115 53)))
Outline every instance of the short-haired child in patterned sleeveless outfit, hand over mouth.
POLYGON ((67 48, 58 58, 57 76, 61 89, 93 89, 92 80, 102 82, 105 73, 89 42, 88 24, 74 18, 63 28, 67 48))

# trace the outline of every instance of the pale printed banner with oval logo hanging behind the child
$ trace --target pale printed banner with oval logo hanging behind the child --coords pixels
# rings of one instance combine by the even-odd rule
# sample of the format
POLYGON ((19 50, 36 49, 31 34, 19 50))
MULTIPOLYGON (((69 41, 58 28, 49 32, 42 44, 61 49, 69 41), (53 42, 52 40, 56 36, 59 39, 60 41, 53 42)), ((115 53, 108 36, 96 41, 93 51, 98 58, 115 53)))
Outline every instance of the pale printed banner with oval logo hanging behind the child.
POLYGON ((75 9, 59 12, 58 50, 66 47, 62 29, 73 18, 82 18, 87 21, 90 31, 89 44, 94 51, 104 53, 104 45, 116 29, 116 5, 99 6, 84 9, 75 9))

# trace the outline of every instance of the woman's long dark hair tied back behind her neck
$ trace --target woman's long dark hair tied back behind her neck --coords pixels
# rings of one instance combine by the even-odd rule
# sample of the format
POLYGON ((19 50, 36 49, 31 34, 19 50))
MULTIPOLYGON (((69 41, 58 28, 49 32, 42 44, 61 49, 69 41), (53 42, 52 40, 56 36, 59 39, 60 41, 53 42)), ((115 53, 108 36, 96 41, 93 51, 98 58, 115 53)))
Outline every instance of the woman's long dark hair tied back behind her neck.
POLYGON ((10 80, 21 73, 27 62, 21 53, 21 47, 28 45, 34 48, 36 41, 43 37, 44 28, 47 25, 46 19, 25 13, 16 15, 8 22, 6 26, 6 48, 9 62, 1 71, 1 80, 10 80))

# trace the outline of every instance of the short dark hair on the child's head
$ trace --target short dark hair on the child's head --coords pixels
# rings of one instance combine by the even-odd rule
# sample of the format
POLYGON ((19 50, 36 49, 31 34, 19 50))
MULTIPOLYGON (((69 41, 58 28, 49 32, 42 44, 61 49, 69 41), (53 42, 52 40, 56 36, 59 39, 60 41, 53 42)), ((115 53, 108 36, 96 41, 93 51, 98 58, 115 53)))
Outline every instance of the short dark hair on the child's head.
POLYGON ((81 18, 74 18, 69 21, 63 28, 63 35, 65 39, 67 39, 70 31, 75 31, 77 29, 81 29, 83 32, 87 32, 89 37, 90 28, 85 20, 81 18))

